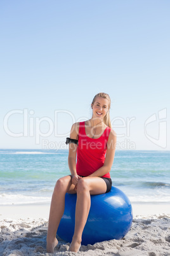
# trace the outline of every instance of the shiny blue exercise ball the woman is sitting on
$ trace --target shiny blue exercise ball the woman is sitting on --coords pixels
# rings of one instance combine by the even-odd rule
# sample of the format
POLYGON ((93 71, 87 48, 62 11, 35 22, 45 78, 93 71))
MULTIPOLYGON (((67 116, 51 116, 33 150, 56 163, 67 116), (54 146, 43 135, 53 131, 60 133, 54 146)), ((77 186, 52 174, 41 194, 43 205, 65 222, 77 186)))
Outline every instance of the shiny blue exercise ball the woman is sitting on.
MULTIPOLYGON (((65 195, 65 211, 57 234, 72 241, 77 194, 65 195)), ((82 233, 82 245, 94 245, 110 239, 123 238, 131 228, 133 211, 128 197, 116 187, 106 194, 91 196, 91 208, 82 233)))

